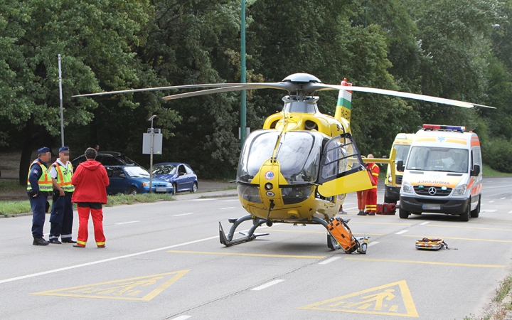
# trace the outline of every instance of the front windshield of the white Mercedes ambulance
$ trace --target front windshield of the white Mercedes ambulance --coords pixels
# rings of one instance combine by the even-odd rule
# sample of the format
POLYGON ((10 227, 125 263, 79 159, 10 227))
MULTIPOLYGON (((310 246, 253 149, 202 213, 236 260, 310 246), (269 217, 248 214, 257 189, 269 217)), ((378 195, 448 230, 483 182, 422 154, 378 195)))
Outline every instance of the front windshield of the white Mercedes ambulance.
POLYGON ((466 149, 413 146, 409 153, 406 169, 463 174, 468 171, 468 159, 466 149))

